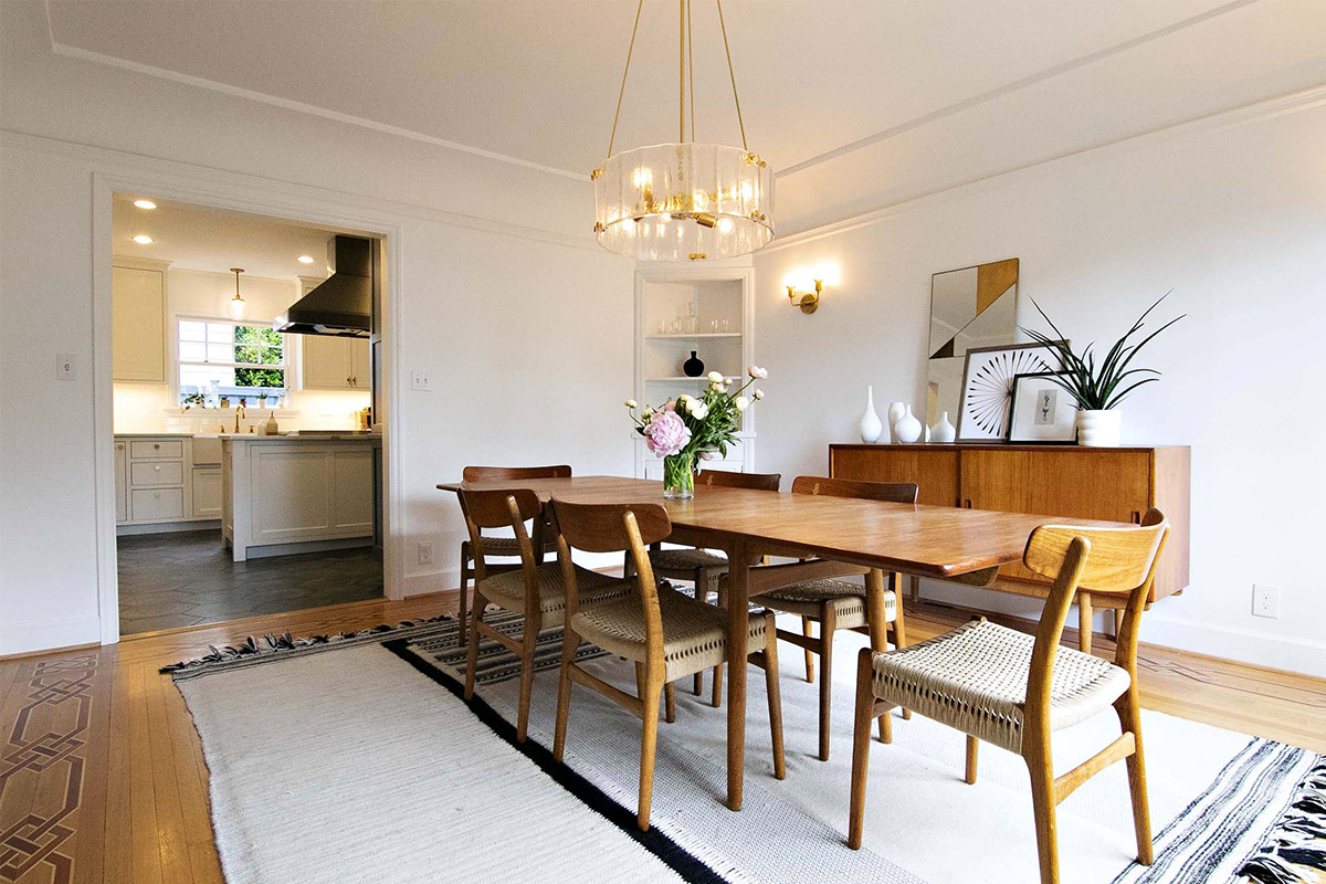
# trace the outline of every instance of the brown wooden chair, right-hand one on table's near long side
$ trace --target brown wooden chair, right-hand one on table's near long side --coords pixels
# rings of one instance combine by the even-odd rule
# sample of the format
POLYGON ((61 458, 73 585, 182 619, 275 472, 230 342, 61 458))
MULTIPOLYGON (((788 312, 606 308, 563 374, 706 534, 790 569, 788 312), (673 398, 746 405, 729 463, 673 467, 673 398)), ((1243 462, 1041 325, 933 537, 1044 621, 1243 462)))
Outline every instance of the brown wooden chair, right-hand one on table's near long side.
MULTIPOLYGON (((553 500, 557 555, 566 583, 566 626, 562 668, 557 689, 557 729, 553 757, 562 759, 572 684, 598 691, 643 721, 640 736, 640 786, 636 824, 650 827, 654 794, 654 758, 658 744, 659 691, 695 672, 709 669, 727 655, 727 620, 723 608, 697 602, 668 587, 659 587, 647 547, 672 533, 667 510, 659 504, 572 504, 553 500), (572 566, 572 549, 587 553, 630 551, 636 579, 626 598, 598 600, 581 592, 579 574, 572 566), (581 640, 635 663, 635 691, 625 691, 598 679, 575 663, 581 640)), ((782 701, 778 693, 778 643, 772 614, 752 614, 747 624, 751 655, 761 667, 769 696, 769 730, 773 738, 773 775, 782 779, 782 701)))

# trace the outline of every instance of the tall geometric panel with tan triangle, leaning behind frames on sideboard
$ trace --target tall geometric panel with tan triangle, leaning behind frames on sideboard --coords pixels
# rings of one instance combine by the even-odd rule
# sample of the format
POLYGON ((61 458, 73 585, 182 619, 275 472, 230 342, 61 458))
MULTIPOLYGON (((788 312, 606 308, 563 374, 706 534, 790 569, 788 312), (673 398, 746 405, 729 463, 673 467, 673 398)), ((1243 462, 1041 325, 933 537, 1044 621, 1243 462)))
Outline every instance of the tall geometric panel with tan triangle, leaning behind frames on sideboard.
POLYGON ((1006 258, 931 276, 927 427, 945 411, 957 420, 968 350, 1017 342, 1017 274, 1018 260, 1006 258))

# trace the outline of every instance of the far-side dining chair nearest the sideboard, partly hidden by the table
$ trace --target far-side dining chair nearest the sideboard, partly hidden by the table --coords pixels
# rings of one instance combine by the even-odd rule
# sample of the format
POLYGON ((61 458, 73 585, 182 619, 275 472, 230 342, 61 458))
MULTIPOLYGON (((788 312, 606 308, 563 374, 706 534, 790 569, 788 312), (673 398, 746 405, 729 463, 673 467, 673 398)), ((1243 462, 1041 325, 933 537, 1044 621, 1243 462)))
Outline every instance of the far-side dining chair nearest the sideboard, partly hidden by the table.
MULTIPOLYGON (((793 494, 825 494, 829 497, 857 497, 892 504, 916 504, 918 488, 914 482, 867 482, 849 478, 797 476, 792 482, 793 494)), ((792 571, 794 574, 794 571, 792 571)), ((883 618, 871 624, 870 583, 883 582, 882 571, 866 575, 866 584, 837 579, 801 580, 769 590, 751 600, 766 608, 794 614, 801 618, 801 634, 778 630, 778 637, 805 649, 806 681, 814 681, 814 655, 819 656, 819 759, 829 761, 829 732, 833 717, 833 636, 838 630, 853 630, 871 635, 884 648, 884 631, 892 630, 894 645, 907 644, 907 624, 903 615, 902 577, 890 574, 888 586, 882 590, 876 604, 883 607, 883 618), (819 635, 812 635, 812 623, 819 623, 819 635), (890 627, 891 624, 891 627, 890 627)), ((907 710, 903 710, 907 714, 907 710)), ((879 720, 880 737, 888 738, 890 720, 879 720)))

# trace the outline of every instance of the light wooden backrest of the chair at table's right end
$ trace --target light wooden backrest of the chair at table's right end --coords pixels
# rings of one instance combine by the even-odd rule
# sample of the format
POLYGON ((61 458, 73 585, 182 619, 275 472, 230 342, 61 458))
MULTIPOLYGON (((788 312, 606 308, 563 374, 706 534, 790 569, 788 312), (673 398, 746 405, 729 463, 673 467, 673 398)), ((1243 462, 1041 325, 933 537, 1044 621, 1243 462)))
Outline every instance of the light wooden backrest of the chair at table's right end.
POLYGON ((1170 524, 1158 509, 1147 510, 1136 527, 1082 527, 1042 525, 1026 541, 1022 563, 1054 578, 1036 630, 1032 669, 1026 685, 1028 728, 1049 733, 1050 684, 1063 623, 1078 590, 1126 599, 1114 661, 1136 683, 1138 628, 1155 582, 1156 563, 1170 535, 1170 524))

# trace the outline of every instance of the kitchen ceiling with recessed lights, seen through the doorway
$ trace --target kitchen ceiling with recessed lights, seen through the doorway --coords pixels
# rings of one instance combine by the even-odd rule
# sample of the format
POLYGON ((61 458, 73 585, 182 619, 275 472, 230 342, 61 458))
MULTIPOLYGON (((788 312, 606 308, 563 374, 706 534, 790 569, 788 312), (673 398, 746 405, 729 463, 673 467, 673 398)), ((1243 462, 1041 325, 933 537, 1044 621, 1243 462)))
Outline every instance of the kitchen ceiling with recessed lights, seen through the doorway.
POLYGON ((172 268, 225 273, 232 266, 251 276, 293 280, 326 276, 326 244, 330 231, 276 221, 259 215, 171 203, 151 193, 115 193, 111 207, 111 252, 130 257, 170 261, 172 268), (149 197, 154 209, 141 209, 133 200, 149 197), (146 233, 149 245, 133 237, 146 233), (313 264, 300 264, 308 254, 313 264))

